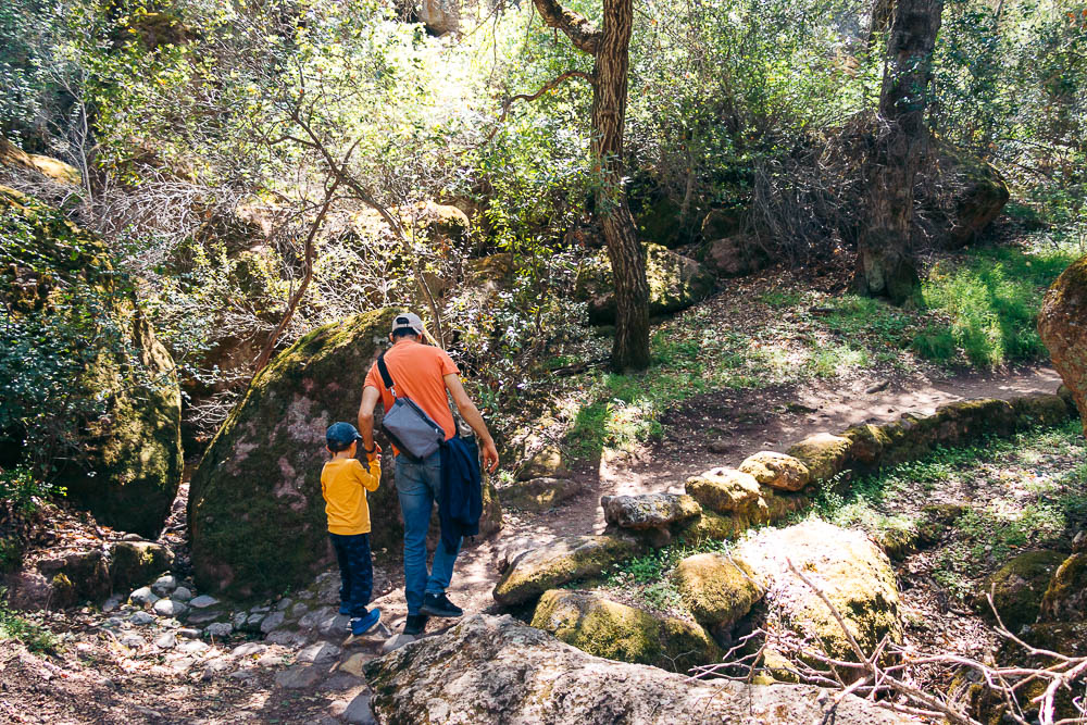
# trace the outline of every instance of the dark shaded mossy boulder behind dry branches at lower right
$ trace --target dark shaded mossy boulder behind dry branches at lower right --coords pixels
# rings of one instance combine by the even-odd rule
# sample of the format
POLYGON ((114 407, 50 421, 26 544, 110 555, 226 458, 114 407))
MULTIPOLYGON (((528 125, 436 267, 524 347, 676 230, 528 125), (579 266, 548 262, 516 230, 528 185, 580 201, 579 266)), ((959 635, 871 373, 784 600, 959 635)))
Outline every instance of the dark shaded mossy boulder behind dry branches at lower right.
POLYGON ((982 582, 974 605, 982 616, 995 621, 986 595, 992 591, 992 603, 1004 626, 1013 634, 1025 624, 1033 624, 1041 609, 1053 572, 1064 561, 1058 551, 1028 551, 1011 559, 982 582))

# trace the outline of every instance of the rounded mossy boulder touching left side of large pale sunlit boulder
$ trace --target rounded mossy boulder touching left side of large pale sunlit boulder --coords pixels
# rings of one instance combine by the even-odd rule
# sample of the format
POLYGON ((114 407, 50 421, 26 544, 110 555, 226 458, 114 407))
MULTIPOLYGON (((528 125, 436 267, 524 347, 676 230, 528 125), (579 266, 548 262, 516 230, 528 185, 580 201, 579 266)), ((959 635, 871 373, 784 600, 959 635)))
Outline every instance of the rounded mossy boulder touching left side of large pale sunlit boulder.
POLYGON ((746 565, 722 553, 687 557, 676 564, 684 607, 703 627, 730 627, 762 598, 746 565))

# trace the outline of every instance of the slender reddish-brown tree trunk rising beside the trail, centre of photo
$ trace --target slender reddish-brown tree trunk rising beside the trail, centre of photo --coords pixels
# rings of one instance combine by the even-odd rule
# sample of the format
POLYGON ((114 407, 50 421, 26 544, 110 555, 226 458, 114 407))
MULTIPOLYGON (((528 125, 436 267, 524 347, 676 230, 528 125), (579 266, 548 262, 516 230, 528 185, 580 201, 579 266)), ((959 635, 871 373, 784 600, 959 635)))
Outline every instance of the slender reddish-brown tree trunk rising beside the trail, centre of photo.
POLYGON ((592 90, 592 157, 599 186, 596 209, 615 282, 615 339, 612 368, 649 366, 649 285, 646 255, 623 189, 623 127, 629 67, 633 0, 603 0, 592 90))

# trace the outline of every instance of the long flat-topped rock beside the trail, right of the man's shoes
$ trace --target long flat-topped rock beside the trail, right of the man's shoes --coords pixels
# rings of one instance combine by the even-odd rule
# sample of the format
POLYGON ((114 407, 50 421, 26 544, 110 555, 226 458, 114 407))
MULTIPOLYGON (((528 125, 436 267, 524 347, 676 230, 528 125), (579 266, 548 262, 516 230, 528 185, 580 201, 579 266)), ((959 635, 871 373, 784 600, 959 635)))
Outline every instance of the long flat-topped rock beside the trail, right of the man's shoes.
POLYGON ((567 536, 517 557, 495 585, 493 597, 507 607, 524 604, 570 582, 600 575, 638 553, 634 539, 620 536, 567 536))

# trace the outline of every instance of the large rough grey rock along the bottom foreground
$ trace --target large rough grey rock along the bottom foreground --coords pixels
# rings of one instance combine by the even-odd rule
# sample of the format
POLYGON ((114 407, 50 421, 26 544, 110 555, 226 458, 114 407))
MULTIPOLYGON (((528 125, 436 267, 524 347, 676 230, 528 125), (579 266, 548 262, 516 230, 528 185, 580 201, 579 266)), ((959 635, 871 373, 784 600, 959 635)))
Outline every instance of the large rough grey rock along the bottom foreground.
POLYGON ((365 667, 371 707, 387 725, 612 725, 796 723, 889 725, 911 718, 826 690, 685 675, 613 662, 564 645, 510 616, 476 614, 365 667))

